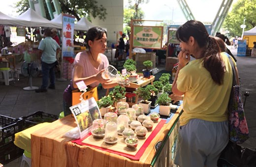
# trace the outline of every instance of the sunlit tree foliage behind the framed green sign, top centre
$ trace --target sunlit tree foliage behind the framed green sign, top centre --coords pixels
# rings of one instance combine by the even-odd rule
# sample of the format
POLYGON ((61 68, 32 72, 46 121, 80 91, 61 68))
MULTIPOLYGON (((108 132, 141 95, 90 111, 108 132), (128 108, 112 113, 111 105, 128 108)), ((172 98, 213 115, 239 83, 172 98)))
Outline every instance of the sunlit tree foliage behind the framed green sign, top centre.
MULTIPOLYGON (((139 5, 148 2, 149 0, 128 0, 128 7, 124 9, 124 24, 126 25, 124 32, 127 32, 128 35, 130 34, 130 21, 144 18, 144 12, 139 5)), ((141 24, 141 22, 136 23, 141 24)))

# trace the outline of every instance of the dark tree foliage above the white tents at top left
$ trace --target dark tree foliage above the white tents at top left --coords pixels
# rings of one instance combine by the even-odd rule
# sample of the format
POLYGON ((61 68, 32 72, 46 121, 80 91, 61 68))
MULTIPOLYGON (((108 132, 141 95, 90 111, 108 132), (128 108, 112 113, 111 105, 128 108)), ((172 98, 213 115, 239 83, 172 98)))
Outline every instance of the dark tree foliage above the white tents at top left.
MULTIPOLYGON (((45 0, 43 0, 43 3, 46 17, 51 20, 45 0)), ((98 17, 100 20, 106 19, 106 8, 99 5, 96 0, 59 0, 59 3, 62 12, 74 15, 77 20, 80 20, 84 16, 98 17)), ((51 4, 54 9, 53 3, 51 4)), ((29 0, 20 0, 16 3, 17 13, 20 14, 28 10, 29 7, 29 0)))

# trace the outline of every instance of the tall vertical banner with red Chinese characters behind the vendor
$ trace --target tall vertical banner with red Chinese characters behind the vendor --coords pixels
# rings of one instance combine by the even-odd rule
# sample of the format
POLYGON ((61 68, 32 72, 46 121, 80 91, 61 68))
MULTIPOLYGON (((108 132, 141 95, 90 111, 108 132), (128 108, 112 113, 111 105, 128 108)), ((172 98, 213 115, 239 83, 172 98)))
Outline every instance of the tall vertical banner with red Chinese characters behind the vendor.
POLYGON ((62 55, 63 57, 74 56, 74 22, 75 17, 63 14, 63 33, 62 33, 62 55))

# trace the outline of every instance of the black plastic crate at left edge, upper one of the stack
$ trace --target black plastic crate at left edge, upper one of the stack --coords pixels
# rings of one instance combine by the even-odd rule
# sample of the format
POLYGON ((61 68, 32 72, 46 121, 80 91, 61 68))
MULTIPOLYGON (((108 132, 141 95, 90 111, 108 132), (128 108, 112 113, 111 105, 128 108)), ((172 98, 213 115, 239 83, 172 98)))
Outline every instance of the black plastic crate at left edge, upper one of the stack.
POLYGON ((0 147, 13 142, 15 134, 22 131, 22 128, 22 119, 0 115, 0 147))

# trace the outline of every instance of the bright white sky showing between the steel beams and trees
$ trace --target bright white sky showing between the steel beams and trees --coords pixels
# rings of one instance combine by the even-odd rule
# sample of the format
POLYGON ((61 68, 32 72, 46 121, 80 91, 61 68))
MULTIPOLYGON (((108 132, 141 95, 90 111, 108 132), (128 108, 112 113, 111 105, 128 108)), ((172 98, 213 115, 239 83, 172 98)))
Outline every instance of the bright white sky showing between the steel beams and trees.
MULTIPOLYGON (((1 0, 3 1, 3 0, 1 0)), ((18 0, 8 0, 0 5, 0 11, 9 16, 18 16, 14 4, 18 0)), ((213 22, 222 0, 186 0, 196 20, 201 22, 213 22)), ((237 0, 233 0, 233 3, 237 0)), ((128 0, 124 0, 124 5, 128 0)), ((149 0, 147 4, 140 6, 145 13, 144 20, 170 21, 173 18, 175 23, 185 23, 186 18, 177 0, 149 0)))

